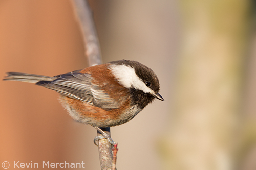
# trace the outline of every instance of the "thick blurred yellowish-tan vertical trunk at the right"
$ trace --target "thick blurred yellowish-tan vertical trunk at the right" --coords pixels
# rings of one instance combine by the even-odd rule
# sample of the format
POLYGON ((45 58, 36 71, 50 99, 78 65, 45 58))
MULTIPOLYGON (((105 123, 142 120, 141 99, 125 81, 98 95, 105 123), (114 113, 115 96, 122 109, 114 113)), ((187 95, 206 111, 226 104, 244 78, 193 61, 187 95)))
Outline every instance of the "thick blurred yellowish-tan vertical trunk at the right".
MULTIPOLYGON (((182 0, 166 169, 237 169, 249 1, 182 0)), ((255 162, 255 161, 254 161, 255 162)))

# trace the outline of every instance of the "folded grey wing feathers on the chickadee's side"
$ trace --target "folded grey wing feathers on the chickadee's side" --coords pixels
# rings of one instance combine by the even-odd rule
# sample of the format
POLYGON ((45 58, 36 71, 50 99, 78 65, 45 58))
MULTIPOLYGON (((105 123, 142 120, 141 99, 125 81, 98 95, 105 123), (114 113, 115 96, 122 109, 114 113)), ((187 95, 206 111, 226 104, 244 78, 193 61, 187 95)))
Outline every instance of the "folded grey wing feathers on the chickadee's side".
POLYGON ((73 71, 55 77, 57 79, 53 81, 40 81, 36 84, 104 110, 119 108, 118 102, 110 98, 101 87, 92 83, 90 74, 73 71))

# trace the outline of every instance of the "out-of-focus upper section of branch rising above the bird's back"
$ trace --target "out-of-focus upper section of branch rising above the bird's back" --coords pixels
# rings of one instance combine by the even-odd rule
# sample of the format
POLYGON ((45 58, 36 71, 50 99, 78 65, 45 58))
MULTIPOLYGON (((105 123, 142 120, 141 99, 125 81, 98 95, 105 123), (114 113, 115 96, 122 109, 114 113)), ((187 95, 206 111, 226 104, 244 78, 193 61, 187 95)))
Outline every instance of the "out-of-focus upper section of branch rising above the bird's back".
POLYGON ((92 11, 86 0, 73 0, 76 20, 83 35, 84 50, 89 60, 89 65, 102 64, 100 45, 96 33, 92 11))

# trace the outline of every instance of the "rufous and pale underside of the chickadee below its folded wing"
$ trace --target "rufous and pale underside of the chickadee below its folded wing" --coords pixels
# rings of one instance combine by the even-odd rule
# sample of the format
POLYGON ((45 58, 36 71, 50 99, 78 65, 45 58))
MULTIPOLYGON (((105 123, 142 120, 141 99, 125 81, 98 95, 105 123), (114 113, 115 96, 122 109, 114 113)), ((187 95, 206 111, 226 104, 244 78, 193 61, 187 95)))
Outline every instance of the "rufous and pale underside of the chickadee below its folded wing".
POLYGON ((124 124, 141 111, 139 107, 130 107, 130 105, 106 111, 66 96, 61 96, 60 101, 73 119, 97 127, 112 127, 124 124))

